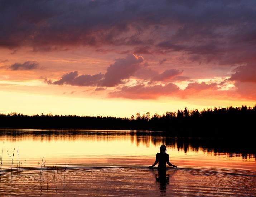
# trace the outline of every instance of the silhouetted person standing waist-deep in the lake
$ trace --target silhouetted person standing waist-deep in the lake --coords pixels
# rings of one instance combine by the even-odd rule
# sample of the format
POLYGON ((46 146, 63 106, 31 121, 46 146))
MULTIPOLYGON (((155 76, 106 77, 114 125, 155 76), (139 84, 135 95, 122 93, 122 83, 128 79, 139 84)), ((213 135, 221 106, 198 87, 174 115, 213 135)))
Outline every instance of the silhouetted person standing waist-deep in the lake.
POLYGON ((162 145, 160 147, 160 153, 156 154, 155 163, 153 163, 152 166, 149 166, 149 168, 154 167, 157 163, 158 163, 158 167, 157 168, 159 170, 163 170, 163 169, 166 170, 166 163, 169 166, 173 166, 173 167, 177 168, 177 166, 172 165, 172 163, 170 163, 169 155, 166 153, 166 146, 165 145, 162 145))

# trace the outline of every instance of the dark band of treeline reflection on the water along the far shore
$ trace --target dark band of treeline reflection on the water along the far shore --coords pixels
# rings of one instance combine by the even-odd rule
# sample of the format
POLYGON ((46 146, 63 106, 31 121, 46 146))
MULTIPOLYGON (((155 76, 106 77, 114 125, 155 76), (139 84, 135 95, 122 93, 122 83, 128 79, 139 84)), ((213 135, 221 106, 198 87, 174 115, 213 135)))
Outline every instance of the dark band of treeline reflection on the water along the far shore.
MULTIPOLYGON (((110 141, 113 139, 130 140, 136 146, 143 144, 149 147, 150 144, 176 146, 178 151, 185 153, 192 148, 214 153, 229 153, 235 157, 255 157, 255 150, 250 139, 246 141, 234 139, 213 140, 201 138, 173 138, 166 137, 161 132, 151 131, 126 131, 126 130, 0 130, 0 140, 11 142, 32 140, 32 141, 76 141, 76 140, 110 141), (241 148, 242 147, 242 148, 241 148), (254 155, 253 155, 254 154, 254 155)), ((253 142, 253 141, 251 141, 253 142)))

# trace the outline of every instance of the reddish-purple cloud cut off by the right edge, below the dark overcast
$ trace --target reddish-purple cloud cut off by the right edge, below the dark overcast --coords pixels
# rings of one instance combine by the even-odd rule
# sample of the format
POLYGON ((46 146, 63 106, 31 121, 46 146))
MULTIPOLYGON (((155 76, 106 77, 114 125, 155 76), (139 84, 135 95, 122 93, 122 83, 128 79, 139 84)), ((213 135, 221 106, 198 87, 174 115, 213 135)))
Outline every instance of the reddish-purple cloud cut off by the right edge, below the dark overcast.
POLYGON ((234 71, 229 80, 256 83, 256 64, 239 66, 234 71))

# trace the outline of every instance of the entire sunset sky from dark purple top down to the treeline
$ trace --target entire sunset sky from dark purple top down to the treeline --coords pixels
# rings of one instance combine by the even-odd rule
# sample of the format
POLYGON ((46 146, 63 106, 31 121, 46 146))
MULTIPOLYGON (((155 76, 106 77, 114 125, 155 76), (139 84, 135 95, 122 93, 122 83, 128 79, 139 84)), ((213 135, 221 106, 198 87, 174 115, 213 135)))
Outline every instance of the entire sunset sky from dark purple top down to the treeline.
POLYGON ((256 1, 0 1, 0 113, 256 103, 256 1))

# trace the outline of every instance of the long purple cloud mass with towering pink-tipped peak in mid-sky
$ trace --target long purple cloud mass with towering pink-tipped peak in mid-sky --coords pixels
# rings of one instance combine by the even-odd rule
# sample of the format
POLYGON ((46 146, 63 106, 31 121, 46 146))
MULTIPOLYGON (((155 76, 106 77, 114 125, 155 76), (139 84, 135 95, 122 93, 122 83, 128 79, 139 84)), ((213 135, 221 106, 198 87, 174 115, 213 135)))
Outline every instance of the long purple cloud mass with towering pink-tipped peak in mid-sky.
POLYGON ((99 86, 115 87, 124 84, 130 77, 148 80, 149 84, 156 81, 167 81, 170 79, 181 80, 187 77, 177 78, 183 71, 177 69, 165 70, 162 73, 149 67, 147 63, 143 64, 143 57, 135 54, 128 54, 125 58, 116 59, 116 61, 107 67, 105 74, 95 75, 78 75, 78 71, 64 74, 59 80, 52 82, 50 79, 44 79, 43 82, 55 85, 72 85, 72 86, 99 86))

